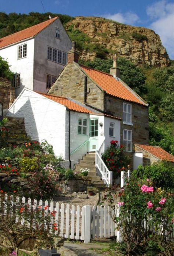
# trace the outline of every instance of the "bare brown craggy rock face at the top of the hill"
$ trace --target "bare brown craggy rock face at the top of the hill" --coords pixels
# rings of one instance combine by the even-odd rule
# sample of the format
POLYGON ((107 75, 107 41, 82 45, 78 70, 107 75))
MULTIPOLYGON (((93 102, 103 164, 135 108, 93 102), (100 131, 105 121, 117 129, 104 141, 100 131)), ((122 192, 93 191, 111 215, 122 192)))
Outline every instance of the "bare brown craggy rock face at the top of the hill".
MULTIPOLYGON (((90 43, 98 43, 107 49, 107 58, 116 52, 118 56, 137 65, 168 66, 170 63, 159 35, 151 29, 97 17, 76 17, 66 24, 66 29, 69 28, 80 30, 90 37, 90 43)), ((93 60, 95 57, 94 51, 81 51, 84 60, 93 60)))

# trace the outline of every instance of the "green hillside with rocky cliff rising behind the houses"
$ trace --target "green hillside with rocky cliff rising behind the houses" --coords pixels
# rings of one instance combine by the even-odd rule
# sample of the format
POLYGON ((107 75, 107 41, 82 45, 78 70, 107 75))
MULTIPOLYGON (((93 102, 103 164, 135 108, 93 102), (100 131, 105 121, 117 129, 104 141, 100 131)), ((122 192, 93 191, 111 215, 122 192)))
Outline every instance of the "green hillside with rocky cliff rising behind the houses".
MULTIPOLYGON (((71 40, 77 42, 77 49, 80 51, 80 62, 92 68, 109 73, 109 69, 112 66, 112 59, 110 57, 115 52, 111 47, 111 42, 113 43, 111 38, 119 40, 116 41, 116 52, 117 55, 120 56, 117 60, 117 65, 120 68, 120 78, 149 104, 150 144, 159 145, 173 154, 174 65, 173 61, 171 61, 170 66, 168 66, 168 55, 160 43, 159 36, 149 29, 119 24, 118 22, 109 21, 104 18, 73 18, 68 15, 52 14, 50 12, 45 14, 30 12, 28 15, 16 13, 7 15, 4 12, 0 12, 0 37, 46 21, 49 15, 51 15, 52 18, 59 16, 71 40), (86 27, 84 24, 86 24, 86 27), (108 34, 107 31, 104 32, 106 28, 110 29, 110 34, 108 34), (86 31, 86 33, 84 31, 86 31), (128 33, 128 31, 130 33, 128 33), (115 33, 117 33, 117 35, 115 35, 115 33), (155 40, 157 47, 162 51, 161 54, 158 52, 159 59, 154 55, 155 46, 152 47, 152 40, 155 40), (119 42, 121 43, 119 44, 119 42), (133 64, 131 62, 134 61, 133 55, 127 55, 128 52, 125 52, 125 49, 127 49, 127 51, 130 49, 125 48, 128 47, 130 43, 133 47, 138 48, 140 46, 142 48, 148 46, 149 53, 147 56, 150 56, 151 60, 155 62, 151 61, 150 63, 147 60, 149 65, 144 64, 139 65, 139 67, 133 64), (123 49, 125 54, 122 52, 123 49), (131 61, 128 59, 131 59, 131 61), (159 67, 152 65, 157 63, 159 67), (162 63, 163 65, 160 67, 162 63), (152 66, 150 66, 150 64, 152 66)), ((145 57, 147 56, 145 55, 145 57)), ((11 73, 6 72, 6 68, 5 70, 3 69, 7 63, 3 62, 2 59, 0 59, 0 62, 0 72, 3 74, 1 74, 1 76, 10 79, 11 73)), ((9 67, 7 69, 9 71, 9 67)))

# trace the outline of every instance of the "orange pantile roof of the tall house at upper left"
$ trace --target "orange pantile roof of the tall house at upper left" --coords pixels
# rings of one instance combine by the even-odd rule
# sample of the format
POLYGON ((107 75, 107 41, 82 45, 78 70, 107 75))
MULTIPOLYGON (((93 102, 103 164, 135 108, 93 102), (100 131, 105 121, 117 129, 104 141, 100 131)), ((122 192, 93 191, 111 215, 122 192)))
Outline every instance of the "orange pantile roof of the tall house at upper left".
POLYGON ((55 21, 58 17, 49 19, 47 21, 44 21, 42 23, 39 23, 37 25, 34 25, 30 28, 23 29, 17 33, 14 33, 9 36, 5 36, 0 38, 0 48, 4 46, 8 46, 10 44, 17 43, 19 41, 22 41, 24 39, 36 36, 41 30, 46 28, 48 25, 50 25, 53 21, 55 21))

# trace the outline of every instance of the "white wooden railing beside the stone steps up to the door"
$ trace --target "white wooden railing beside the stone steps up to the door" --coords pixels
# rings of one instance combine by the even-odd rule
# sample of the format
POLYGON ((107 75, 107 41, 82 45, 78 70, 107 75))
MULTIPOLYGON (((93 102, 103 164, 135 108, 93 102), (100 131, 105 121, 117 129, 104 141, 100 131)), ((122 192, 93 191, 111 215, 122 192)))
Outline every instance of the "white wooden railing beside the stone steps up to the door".
POLYGON ((95 152, 95 166, 99 170, 99 172, 102 175, 102 180, 104 180, 104 183, 109 187, 109 185, 112 185, 112 172, 108 170, 108 167, 105 165, 103 159, 101 158, 102 154, 105 151, 105 137, 98 148, 95 152))

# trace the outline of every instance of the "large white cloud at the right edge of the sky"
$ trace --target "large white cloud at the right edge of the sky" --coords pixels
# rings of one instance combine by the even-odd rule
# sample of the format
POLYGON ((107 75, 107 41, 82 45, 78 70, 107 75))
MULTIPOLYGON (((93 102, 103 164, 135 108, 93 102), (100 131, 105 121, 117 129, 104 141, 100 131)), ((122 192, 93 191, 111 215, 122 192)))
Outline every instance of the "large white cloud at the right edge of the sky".
POLYGON ((174 55, 174 4, 162 0, 147 7, 147 15, 155 19, 149 28, 155 30, 160 36, 163 46, 166 48, 170 58, 174 55))

